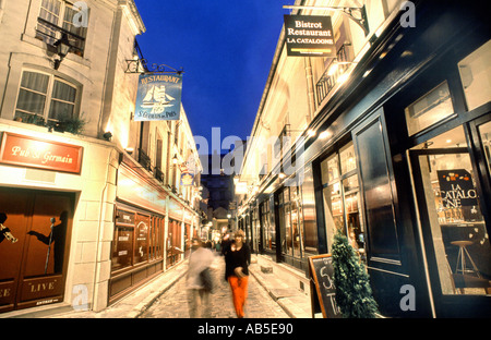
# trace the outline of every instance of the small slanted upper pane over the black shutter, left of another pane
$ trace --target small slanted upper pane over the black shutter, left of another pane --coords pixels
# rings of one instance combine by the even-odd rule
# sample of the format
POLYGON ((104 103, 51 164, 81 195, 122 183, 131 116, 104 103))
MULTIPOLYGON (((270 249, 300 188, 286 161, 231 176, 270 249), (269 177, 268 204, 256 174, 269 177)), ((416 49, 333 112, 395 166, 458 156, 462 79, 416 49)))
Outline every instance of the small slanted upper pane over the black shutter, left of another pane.
POLYGON ((443 82, 404 111, 410 136, 447 118, 454 113, 448 85, 443 82))

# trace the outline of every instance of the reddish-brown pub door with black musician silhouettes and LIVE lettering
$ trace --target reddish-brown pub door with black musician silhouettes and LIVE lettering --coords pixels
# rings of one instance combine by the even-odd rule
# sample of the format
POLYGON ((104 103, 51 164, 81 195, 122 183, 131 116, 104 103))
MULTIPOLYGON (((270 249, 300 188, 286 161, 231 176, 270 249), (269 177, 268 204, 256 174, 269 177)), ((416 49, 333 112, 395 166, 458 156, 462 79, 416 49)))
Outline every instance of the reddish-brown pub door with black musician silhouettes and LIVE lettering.
POLYGON ((72 195, 4 187, 0 209, 0 313, 62 302, 72 195))

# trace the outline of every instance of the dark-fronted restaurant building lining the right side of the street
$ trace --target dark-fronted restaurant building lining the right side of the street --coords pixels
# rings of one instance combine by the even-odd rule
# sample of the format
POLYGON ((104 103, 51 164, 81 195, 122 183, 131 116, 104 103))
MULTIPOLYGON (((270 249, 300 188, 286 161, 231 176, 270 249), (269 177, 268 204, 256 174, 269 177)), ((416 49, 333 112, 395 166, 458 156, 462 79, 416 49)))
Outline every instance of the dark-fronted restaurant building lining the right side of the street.
POLYGON ((486 315, 486 15, 459 1, 363 1, 351 14, 366 14, 364 31, 325 9, 337 1, 296 5, 291 14, 332 16, 336 58, 288 57, 282 31, 242 162, 253 190, 237 197, 239 226, 256 251, 306 272, 342 230, 383 315, 486 315))

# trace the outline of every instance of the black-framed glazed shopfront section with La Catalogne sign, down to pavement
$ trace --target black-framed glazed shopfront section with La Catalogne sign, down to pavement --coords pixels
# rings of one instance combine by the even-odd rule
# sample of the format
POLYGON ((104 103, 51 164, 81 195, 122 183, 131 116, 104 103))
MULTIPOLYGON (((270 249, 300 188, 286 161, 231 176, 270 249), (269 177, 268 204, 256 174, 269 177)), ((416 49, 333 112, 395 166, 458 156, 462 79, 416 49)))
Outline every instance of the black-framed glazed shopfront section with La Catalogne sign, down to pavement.
POLYGON ((491 122, 467 137, 465 126, 409 151, 436 317, 482 317, 491 305, 491 122))

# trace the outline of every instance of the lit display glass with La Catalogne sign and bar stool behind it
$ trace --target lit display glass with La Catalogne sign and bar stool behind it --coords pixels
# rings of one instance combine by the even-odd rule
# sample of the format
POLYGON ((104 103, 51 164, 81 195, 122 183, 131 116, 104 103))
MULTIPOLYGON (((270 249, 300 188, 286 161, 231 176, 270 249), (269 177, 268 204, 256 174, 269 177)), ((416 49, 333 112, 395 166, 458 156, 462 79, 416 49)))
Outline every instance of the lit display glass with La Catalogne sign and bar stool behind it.
MULTIPOLYGON (((489 156, 491 123, 480 127, 489 156)), ((489 294, 491 247, 463 126, 418 145, 411 155, 442 294, 489 294)))

